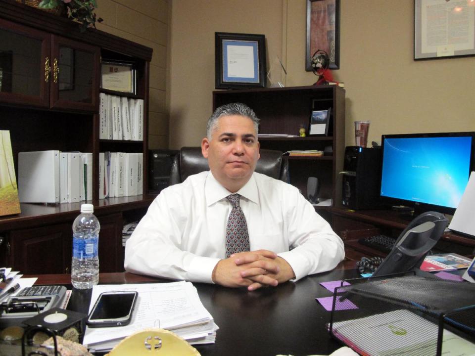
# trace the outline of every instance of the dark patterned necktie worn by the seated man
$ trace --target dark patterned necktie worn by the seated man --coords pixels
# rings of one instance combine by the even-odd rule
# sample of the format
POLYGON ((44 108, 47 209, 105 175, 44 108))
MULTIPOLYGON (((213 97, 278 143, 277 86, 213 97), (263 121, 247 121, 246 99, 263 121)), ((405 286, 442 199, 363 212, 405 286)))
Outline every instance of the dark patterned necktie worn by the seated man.
POLYGON ((226 226, 226 258, 234 253, 249 251, 249 233, 246 218, 239 206, 239 197, 239 194, 226 197, 233 205, 226 226))

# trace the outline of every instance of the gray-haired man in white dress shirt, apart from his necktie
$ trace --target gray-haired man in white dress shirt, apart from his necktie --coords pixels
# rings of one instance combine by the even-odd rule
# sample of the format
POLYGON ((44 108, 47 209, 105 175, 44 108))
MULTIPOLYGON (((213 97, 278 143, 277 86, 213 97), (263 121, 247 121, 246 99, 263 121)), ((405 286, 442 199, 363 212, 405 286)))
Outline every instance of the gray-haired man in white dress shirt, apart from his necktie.
POLYGON ((201 142, 210 171, 155 198, 127 241, 127 271, 255 290, 343 260, 343 242, 296 187, 254 172, 258 123, 244 104, 216 109, 201 142), (226 258, 232 193, 240 195, 250 251, 226 258))

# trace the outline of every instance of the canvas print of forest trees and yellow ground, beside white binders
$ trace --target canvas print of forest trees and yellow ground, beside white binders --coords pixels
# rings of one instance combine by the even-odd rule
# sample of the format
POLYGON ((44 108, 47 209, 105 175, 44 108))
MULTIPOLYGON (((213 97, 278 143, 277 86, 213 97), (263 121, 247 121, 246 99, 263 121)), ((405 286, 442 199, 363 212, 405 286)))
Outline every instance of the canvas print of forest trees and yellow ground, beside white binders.
POLYGON ((13 166, 10 132, 0 130, 0 216, 19 213, 20 201, 13 166))

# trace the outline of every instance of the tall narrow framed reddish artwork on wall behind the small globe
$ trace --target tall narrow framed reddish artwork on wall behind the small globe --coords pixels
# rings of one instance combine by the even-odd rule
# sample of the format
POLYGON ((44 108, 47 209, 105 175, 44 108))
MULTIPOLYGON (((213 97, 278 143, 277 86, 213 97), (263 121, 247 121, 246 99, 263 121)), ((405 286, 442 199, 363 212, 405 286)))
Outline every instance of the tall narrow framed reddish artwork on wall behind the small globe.
POLYGON ((307 0, 307 72, 312 71, 310 62, 319 49, 328 53, 330 69, 340 68, 340 0, 307 0))

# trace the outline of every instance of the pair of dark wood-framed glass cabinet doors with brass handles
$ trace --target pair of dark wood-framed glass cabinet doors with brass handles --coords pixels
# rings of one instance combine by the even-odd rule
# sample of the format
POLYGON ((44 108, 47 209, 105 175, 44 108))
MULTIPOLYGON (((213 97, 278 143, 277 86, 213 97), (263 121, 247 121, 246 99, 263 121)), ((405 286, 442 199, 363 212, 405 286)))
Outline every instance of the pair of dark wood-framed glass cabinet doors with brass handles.
POLYGON ((0 19, 0 100, 97 110, 100 48, 0 19))

